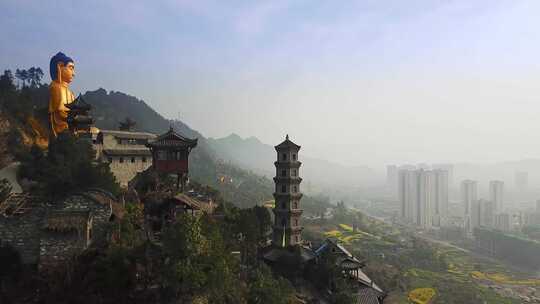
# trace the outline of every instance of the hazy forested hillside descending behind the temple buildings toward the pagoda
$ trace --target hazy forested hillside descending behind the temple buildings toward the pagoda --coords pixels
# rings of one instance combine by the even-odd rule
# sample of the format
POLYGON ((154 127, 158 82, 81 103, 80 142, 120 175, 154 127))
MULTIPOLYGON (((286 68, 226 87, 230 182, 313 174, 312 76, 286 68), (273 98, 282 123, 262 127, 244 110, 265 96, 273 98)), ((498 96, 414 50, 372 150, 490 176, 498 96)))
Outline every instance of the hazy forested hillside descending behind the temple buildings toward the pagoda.
MULTIPOLYGON (((272 180, 246 170, 243 164, 222 161, 230 157, 221 155, 224 151, 215 151, 202 134, 181 121, 166 119, 144 101, 104 89, 88 91, 83 98, 93 105, 92 115, 98 128, 116 130, 119 123, 129 117, 136 122, 135 131, 161 134, 172 126, 187 137, 198 138, 199 144, 190 154, 190 176, 218 189, 228 201, 250 207, 272 199, 272 180)), ((273 160, 269 160, 269 164, 272 165, 273 160)), ((306 209, 319 212, 326 205, 326 199, 321 200, 306 197, 306 209)))

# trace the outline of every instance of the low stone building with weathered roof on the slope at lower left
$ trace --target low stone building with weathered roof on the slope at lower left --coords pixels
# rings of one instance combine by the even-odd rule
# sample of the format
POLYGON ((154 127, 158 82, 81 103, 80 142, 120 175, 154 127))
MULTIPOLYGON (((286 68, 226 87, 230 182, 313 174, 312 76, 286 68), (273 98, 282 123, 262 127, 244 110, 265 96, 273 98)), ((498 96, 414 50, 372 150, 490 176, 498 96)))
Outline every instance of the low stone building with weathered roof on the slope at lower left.
POLYGON ((23 264, 46 271, 111 237, 108 223, 123 216, 114 196, 102 190, 45 204, 25 195, 0 204, 0 245, 9 245, 23 264))

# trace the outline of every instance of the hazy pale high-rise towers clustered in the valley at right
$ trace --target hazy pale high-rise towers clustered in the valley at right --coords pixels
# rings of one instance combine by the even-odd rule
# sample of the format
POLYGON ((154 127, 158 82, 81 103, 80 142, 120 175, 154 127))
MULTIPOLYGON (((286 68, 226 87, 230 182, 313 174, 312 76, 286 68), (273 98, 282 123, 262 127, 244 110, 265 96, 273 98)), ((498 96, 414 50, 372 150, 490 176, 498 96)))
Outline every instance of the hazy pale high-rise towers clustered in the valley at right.
MULTIPOLYGON (((489 182, 487 198, 479 196, 478 181, 463 180, 459 199, 456 202, 455 192, 449 202, 453 173, 451 164, 387 166, 387 188, 397 196, 399 218, 420 229, 459 228, 469 236, 480 227, 510 232, 540 225, 540 201, 535 210, 512 210, 505 204, 505 184, 500 180, 489 182)), ((516 172, 516 189, 525 191, 527 186, 528 173, 516 172)))

